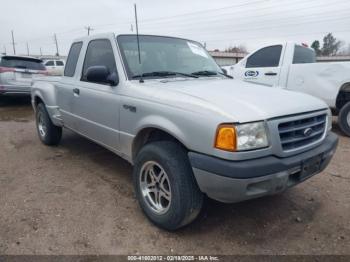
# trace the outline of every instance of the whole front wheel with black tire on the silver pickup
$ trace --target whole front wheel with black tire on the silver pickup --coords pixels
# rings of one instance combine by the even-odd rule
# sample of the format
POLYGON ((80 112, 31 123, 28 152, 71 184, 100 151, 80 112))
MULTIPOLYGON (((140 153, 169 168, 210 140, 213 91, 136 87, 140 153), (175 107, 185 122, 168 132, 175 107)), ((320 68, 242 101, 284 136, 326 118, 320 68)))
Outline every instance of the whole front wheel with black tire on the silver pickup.
POLYGON ((133 170, 139 204, 151 222, 166 230, 191 223, 203 205, 186 150, 175 142, 146 144, 133 170))

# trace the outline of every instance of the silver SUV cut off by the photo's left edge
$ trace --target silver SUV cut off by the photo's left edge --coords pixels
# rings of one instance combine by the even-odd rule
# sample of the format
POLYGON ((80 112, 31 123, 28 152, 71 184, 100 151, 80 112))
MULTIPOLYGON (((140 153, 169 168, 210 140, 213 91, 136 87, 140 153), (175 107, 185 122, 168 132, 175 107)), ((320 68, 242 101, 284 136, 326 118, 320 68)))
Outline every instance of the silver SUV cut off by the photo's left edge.
POLYGON ((0 58, 0 96, 30 95, 33 80, 46 75, 42 60, 27 56, 9 56, 0 58))

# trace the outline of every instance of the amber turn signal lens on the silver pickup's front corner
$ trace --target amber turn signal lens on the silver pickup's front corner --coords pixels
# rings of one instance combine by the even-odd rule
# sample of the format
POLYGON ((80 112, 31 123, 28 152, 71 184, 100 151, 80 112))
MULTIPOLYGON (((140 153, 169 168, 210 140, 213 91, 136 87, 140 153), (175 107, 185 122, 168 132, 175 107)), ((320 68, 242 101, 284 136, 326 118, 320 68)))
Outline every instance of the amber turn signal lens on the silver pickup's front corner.
POLYGON ((236 151, 237 137, 233 125, 222 124, 218 126, 214 146, 225 151, 236 151))

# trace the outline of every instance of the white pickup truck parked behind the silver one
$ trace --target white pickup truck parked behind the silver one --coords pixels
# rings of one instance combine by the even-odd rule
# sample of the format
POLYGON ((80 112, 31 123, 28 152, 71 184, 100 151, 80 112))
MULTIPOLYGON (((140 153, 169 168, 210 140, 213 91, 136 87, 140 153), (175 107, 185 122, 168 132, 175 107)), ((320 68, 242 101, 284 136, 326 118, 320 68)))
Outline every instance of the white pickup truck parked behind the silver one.
POLYGON ((316 63, 313 49, 287 42, 260 48, 224 69, 236 79, 321 98, 350 136, 350 62, 316 63))

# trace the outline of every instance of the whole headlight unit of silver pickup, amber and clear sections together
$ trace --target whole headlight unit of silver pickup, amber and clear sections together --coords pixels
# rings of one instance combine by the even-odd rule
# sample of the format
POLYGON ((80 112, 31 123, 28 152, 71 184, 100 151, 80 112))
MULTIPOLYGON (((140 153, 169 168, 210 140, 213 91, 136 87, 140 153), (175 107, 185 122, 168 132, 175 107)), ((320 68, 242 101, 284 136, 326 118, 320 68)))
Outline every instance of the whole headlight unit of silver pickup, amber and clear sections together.
POLYGON ((218 127, 215 147, 226 151, 244 151, 269 145, 264 122, 218 127))

